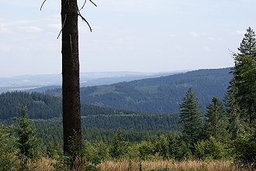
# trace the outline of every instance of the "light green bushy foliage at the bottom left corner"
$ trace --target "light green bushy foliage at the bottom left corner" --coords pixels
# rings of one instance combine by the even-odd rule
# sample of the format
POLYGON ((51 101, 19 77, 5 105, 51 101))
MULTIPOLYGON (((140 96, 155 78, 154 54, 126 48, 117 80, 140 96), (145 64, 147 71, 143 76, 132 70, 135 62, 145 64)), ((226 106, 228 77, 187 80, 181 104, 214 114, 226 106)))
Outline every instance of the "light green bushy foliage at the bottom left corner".
POLYGON ((8 126, 0 124, 0 170, 16 170, 19 166, 19 149, 16 138, 8 126))

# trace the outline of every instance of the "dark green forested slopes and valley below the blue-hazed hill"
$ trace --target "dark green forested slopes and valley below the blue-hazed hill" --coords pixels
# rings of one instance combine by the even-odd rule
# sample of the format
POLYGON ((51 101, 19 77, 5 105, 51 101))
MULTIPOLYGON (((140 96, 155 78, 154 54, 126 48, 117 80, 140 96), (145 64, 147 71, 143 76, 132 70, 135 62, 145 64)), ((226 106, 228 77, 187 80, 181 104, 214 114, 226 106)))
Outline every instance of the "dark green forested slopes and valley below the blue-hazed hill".
MULTIPOLYGON (((0 121, 13 123, 10 118, 21 115, 22 104, 27 105, 29 118, 33 118, 37 135, 44 143, 62 141, 61 97, 25 92, 0 94, 0 121)), ((83 136, 93 141, 109 140, 117 129, 125 130, 131 141, 150 139, 151 135, 179 129, 178 114, 124 111, 82 104, 81 115, 83 136)))

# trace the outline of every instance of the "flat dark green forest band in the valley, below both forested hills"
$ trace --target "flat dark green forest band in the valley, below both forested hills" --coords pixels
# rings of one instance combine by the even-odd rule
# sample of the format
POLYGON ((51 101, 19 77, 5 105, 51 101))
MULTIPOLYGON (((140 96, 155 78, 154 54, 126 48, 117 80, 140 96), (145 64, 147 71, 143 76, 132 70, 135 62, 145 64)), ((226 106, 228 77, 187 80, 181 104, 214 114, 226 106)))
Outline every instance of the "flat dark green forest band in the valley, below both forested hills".
MULTIPOLYGON (((37 135, 47 142, 62 142, 61 118, 33 120, 37 135)), ((111 139, 121 129, 126 139, 137 142, 153 139, 154 135, 178 131, 178 115, 89 115, 81 117, 82 135, 90 141, 111 139), (151 137, 151 138, 150 138, 151 137)))

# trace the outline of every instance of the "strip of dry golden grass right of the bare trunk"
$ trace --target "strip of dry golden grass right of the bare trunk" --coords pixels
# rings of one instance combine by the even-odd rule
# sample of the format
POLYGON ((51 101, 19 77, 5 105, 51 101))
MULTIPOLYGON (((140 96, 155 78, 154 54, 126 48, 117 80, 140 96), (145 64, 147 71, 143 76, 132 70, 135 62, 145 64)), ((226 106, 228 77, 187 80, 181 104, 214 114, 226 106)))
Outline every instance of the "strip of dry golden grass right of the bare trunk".
MULTIPOLYGON (((174 160, 160 160, 160 161, 106 161, 99 165, 102 171, 150 171, 150 170, 170 170, 170 171, 231 171, 241 170, 230 161, 183 161, 178 162, 174 160), (140 169, 141 167, 141 169, 140 169)), ((245 170, 245 169, 244 169, 245 170)))

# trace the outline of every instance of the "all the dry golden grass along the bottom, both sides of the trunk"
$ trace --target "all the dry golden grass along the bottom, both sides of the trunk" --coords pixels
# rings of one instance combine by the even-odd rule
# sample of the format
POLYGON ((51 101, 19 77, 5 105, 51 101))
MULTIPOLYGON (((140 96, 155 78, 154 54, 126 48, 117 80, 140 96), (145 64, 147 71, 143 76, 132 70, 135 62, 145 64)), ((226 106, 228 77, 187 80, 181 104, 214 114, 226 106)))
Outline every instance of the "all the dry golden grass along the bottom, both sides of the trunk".
MULTIPOLYGON (((31 164, 31 170, 51 171, 54 167, 51 163, 56 163, 53 159, 41 158, 31 164)), ((101 171, 246 171, 251 169, 238 169, 233 162, 226 160, 218 161, 174 161, 174 160, 157 160, 157 161, 106 161, 100 163, 97 168, 101 171)), ((55 169, 56 170, 56 169, 55 169)), ((62 170, 62 169, 57 169, 62 170)), ((85 170, 85 169, 81 169, 85 170)), ((95 169, 88 169, 94 171, 95 169)))

